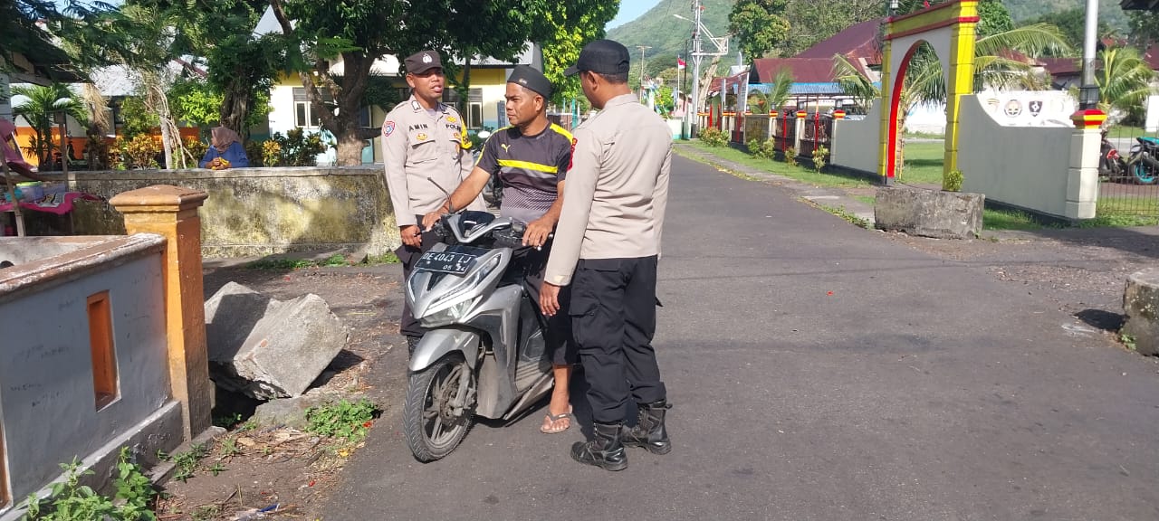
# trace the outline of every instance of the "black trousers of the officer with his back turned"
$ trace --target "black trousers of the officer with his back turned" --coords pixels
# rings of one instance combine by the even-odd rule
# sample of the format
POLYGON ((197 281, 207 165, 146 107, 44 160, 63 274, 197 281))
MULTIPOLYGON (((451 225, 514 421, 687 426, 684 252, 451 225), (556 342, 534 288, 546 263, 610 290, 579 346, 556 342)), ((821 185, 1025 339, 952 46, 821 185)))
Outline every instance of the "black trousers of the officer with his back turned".
POLYGON ((571 335, 597 424, 619 424, 636 403, 668 398, 656 351, 656 260, 580 259, 571 277, 571 335))

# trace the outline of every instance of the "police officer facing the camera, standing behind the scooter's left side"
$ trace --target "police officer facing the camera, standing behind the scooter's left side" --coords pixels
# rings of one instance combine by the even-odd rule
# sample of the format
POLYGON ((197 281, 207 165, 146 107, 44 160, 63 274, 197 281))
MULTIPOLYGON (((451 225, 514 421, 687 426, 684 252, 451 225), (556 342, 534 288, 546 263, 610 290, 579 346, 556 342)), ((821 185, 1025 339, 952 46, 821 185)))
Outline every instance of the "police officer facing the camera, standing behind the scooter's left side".
MULTIPOLYGON (((382 162, 394 220, 402 236, 402 245, 395 252, 402 262, 403 285, 418 257, 438 242, 437 235, 420 228, 423 214, 443 206, 447 195, 474 167, 462 117, 440 101, 445 78, 438 53, 421 51, 404 64, 410 98, 395 105, 382 122, 382 162)), ((487 210, 478 197, 467 208, 487 210)), ((414 352, 425 331, 411 315, 406 299, 399 330, 407 337, 407 348, 414 352)))

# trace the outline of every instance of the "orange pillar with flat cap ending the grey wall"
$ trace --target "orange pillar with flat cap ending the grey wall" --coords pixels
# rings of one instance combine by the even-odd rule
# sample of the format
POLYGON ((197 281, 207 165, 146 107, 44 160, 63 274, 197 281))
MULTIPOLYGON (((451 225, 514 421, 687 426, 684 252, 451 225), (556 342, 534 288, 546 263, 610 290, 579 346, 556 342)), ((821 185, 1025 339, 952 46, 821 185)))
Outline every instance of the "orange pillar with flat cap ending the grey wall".
POLYGON ((206 197, 201 190, 155 185, 109 200, 124 215, 127 233, 158 234, 166 240, 161 262, 169 388, 182 405, 185 440, 211 426, 213 384, 205 345, 202 220, 197 217, 206 197))

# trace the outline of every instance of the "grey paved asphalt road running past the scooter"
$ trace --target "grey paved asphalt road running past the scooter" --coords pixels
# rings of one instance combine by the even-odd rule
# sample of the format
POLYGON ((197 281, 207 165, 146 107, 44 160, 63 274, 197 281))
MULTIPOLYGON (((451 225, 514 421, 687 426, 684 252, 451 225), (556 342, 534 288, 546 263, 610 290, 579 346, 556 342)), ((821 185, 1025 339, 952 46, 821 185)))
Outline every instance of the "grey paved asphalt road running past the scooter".
POLYGON ((537 410, 420 464, 395 408, 325 519, 1159 519, 1153 361, 775 186, 678 157, 669 207, 670 455, 581 467, 537 410))

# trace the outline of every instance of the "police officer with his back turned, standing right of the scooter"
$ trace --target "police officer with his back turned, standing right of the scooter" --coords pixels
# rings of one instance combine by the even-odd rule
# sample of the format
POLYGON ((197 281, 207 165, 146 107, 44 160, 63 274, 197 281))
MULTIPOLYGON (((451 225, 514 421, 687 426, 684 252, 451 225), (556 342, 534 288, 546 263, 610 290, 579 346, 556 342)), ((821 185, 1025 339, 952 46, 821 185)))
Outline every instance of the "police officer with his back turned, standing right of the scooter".
POLYGON ((606 470, 628 467, 624 446, 668 454, 668 391, 651 339, 656 332, 656 263, 668 204, 672 132, 628 88, 628 50, 600 39, 575 66, 599 113, 575 131, 563 208, 547 260, 540 306, 560 310, 571 286, 573 336, 590 387, 595 436, 571 457, 606 470), (625 430, 628 399, 639 423, 625 430))

